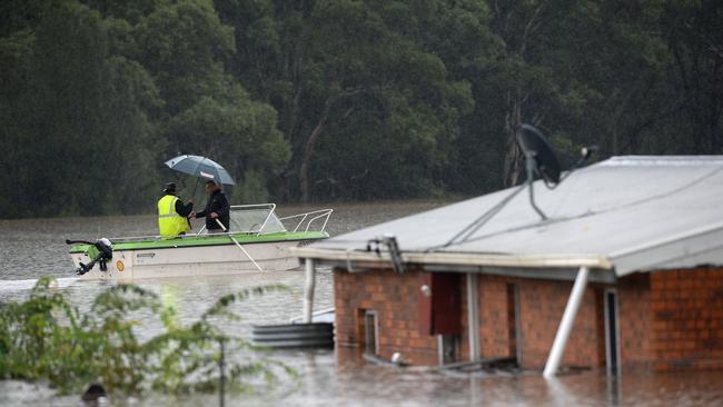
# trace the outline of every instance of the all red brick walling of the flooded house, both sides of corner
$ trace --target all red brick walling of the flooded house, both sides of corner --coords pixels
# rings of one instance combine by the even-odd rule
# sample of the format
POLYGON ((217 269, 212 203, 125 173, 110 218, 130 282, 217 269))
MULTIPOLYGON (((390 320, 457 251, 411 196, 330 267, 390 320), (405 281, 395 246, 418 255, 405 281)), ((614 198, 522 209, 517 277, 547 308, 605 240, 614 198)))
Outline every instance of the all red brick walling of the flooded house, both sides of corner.
MULTIPOLYGON (((437 338, 418 330, 419 272, 392 270, 349 274, 335 270, 336 335, 341 347, 363 348, 359 311, 376 310, 380 356, 400 351, 406 361, 436 365, 437 338)), ((462 279, 462 360, 469 355, 465 279, 462 279)), ((508 285, 518 287, 522 366, 542 369, 572 290, 572 281, 478 276, 481 355, 514 356, 508 285)), ((624 369, 723 368, 723 269, 636 274, 615 285, 586 288, 563 358, 564 366, 605 366, 604 297, 618 298, 624 369)), ((514 334, 514 332, 513 332, 514 334)))

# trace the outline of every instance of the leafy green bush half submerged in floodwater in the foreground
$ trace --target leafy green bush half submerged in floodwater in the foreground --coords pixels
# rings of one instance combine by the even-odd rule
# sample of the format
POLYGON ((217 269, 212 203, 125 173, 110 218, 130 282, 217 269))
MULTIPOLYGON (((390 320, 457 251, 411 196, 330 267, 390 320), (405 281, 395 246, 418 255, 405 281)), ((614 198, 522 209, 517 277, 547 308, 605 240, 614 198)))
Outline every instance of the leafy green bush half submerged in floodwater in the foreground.
POLYGON ((226 336, 214 321, 238 320, 230 306, 250 296, 284 290, 266 286, 227 295, 198 321, 180 326, 175 310, 153 292, 119 285, 98 295, 90 312, 81 314, 47 277, 30 298, 0 304, 0 378, 48 380, 61 393, 100 383, 111 393, 145 390, 185 394, 218 390, 219 343, 227 353, 254 351, 245 360, 226 356, 229 388, 245 389, 245 378, 260 377, 270 386, 276 375, 295 376, 284 364, 258 356, 248 341, 226 336), (138 339, 133 315, 158 315, 164 331, 138 339))

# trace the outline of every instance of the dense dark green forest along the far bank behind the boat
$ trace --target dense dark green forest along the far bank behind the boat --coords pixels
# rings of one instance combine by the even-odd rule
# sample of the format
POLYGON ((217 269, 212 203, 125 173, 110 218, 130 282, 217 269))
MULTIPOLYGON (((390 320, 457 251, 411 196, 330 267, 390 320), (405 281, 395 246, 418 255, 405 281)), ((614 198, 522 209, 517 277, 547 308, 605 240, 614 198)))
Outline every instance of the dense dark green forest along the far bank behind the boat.
POLYGON ((722 4, 4 1, 0 212, 152 211, 178 153, 236 199, 481 193, 517 181, 521 122, 722 153, 722 4))

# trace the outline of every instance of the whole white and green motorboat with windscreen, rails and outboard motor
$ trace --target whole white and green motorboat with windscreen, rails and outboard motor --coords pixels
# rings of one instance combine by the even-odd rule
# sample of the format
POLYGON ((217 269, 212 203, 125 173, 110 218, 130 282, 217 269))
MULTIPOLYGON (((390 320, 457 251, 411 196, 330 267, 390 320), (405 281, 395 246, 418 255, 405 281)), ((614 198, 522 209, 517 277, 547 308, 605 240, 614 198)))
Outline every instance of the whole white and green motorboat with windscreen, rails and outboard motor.
MULTIPOLYGON (((291 247, 326 239, 333 209, 279 218, 275 204, 230 208, 227 232, 176 238, 158 236, 99 239, 70 248, 81 278, 132 280, 289 270, 299 266, 291 247)), ((69 241, 70 242, 70 241, 69 241)))

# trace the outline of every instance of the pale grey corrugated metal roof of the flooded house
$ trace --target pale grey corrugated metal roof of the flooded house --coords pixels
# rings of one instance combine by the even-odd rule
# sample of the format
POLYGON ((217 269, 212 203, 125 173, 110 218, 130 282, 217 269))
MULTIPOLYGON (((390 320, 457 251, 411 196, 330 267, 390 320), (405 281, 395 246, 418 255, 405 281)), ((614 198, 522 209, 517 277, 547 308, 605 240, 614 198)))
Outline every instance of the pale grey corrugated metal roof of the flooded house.
POLYGON ((541 181, 534 188, 547 220, 523 190, 466 241, 444 247, 513 188, 340 235, 306 254, 363 251, 369 239, 393 234, 405 254, 603 258, 617 276, 723 265, 723 156, 614 157, 573 172, 554 190, 541 181))

